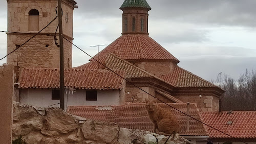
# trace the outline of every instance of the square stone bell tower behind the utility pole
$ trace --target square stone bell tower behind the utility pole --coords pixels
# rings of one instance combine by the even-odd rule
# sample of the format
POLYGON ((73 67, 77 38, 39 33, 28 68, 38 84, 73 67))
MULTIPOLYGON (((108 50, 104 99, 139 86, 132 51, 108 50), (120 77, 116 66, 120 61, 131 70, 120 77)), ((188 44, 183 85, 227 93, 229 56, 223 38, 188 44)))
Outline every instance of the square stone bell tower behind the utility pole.
MULTIPOLYGON (((7 0, 8 3, 8 31, 7 53, 43 29, 55 17, 57 0, 7 0)), ((73 0, 62 0, 63 36, 73 40, 73 10, 76 7, 73 0)), ((22 67, 59 67, 59 47, 55 44, 54 34, 58 26, 58 18, 44 31, 32 38, 25 45, 19 47, 7 57, 7 63, 14 63, 22 67)), ((58 31, 57 31, 57 39, 58 31)), ((59 43, 59 41, 56 41, 59 43)), ((64 43, 65 68, 72 67, 72 44, 67 40, 64 43)))

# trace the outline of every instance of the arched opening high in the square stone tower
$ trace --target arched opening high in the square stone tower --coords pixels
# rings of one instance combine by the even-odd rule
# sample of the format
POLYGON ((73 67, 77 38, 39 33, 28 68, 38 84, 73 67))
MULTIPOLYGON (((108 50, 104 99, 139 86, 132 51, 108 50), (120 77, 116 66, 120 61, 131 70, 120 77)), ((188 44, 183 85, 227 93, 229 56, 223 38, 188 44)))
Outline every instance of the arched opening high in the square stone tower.
POLYGON ((36 9, 29 11, 29 31, 39 31, 39 11, 36 9))

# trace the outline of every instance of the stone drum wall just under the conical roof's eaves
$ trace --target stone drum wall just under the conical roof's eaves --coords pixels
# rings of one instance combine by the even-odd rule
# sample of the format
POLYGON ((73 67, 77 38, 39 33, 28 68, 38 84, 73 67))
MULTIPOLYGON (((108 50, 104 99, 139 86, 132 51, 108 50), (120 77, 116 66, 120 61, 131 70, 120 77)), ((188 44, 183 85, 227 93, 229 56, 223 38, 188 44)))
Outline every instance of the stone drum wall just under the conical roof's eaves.
POLYGON ((158 62, 158 61, 144 61, 144 62, 134 62, 134 65, 148 71, 149 73, 161 78, 162 75, 167 75, 172 73, 174 69, 174 63, 172 62, 158 62))

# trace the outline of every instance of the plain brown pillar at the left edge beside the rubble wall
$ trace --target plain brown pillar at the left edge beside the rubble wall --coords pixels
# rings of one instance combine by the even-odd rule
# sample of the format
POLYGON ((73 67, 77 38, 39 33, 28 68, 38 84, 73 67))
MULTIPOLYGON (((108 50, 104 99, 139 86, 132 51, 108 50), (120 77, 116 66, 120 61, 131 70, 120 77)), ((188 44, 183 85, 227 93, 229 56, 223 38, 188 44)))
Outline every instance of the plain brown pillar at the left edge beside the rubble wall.
POLYGON ((13 71, 12 64, 0 66, 1 143, 12 143, 13 71))

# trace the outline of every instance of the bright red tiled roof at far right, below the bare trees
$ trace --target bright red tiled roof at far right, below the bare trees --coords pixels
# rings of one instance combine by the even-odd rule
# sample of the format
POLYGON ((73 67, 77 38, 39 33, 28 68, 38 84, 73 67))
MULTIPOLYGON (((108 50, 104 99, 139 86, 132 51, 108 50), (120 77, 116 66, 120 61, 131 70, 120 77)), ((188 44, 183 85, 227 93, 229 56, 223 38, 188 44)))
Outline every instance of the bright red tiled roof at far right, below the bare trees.
MULTIPOLYGON (((256 138, 256 111, 202 112, 204 122, 234 138, 256 138), (232 124, 227 124, 232 121, 232 124)), ((230 138, 207 127, 210 138, 230 138)))

